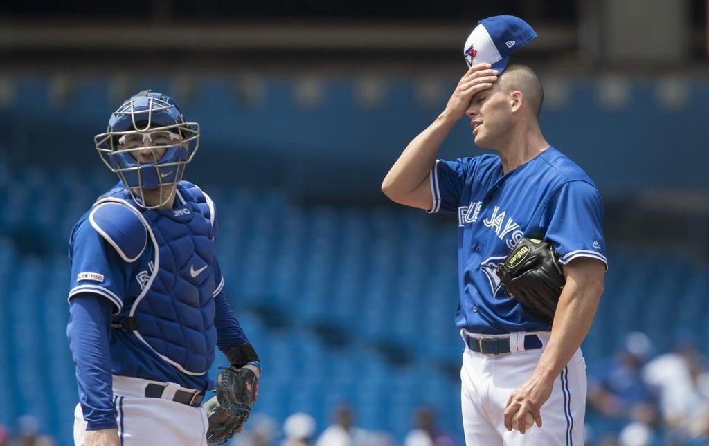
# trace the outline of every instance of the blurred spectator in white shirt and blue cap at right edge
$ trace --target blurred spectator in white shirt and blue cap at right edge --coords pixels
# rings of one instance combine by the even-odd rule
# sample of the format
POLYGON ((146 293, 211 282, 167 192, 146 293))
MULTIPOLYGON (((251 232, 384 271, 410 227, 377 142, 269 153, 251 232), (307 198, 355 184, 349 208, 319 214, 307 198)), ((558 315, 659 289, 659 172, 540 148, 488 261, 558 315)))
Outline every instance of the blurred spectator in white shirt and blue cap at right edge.
POLYGON ((708 438, 709 394, 704 384, 708 378, 693 333, 679 333, 673 350, 648 362, 643 376, 659 391, 669 442, 708 438))

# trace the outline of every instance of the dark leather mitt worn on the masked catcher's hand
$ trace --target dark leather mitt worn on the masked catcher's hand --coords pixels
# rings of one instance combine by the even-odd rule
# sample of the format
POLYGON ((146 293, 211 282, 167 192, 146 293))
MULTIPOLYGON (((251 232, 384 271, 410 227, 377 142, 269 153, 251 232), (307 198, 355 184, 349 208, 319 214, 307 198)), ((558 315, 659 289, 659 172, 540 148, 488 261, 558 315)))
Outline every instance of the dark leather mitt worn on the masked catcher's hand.
POLYGON ((209 416, 207 441, 221 443, 249 418, 259 393, 259 379, 247 368, 227 367, 217 375, 216 396, 204 404, 209 416))

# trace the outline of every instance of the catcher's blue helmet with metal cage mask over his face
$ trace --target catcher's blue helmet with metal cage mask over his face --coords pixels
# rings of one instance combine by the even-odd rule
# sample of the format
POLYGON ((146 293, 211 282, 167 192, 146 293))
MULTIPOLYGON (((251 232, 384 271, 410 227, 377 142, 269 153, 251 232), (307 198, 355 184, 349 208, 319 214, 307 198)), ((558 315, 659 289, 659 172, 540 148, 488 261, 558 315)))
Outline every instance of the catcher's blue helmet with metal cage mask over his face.
POLYGON ((174 99, 145 90, 113 112, 108 130, 94 142, 101 160, 118 174, 133 200, 154 209, 171 200, 199 148, 199 124, 186 122, 174 99), (147 205, 144 190, 156 188, 160 202, 147 205))

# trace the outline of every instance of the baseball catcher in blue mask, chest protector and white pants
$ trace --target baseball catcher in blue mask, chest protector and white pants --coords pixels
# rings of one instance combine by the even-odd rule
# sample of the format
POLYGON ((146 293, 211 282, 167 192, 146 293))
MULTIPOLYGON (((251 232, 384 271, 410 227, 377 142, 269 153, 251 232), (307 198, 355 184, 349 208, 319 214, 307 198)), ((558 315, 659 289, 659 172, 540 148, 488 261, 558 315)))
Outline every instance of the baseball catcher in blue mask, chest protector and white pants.
POLYGON ((144 90, 94 137, 120 182, 70 236, 76 446, 206 446, 217 350, 234 370, 218 377, 213 438, 238 431, 256 399, 261 365, 224 291, 217 207, 183 180, 199 129, 174 98, 144 90))

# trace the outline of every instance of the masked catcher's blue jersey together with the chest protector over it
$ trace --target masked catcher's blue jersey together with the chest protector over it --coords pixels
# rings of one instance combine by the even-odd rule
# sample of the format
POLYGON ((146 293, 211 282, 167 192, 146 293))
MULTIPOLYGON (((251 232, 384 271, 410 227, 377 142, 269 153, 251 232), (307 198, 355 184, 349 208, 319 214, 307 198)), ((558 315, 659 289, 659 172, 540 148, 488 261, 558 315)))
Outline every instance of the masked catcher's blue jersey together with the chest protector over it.
MULTIPOLYGON (((106 236, 94 214, 101 205, 94 205, 72 231, 69 299, 90 293, 113 304, 114 329, 109 344, 112 374, 204 390, 211 384, 206 370, 212 364, 215 344, 225 351, 247 339, 222 292, 224 280, 213 255, 217 233, 213 204, 206 197, 210 212, 201 215, 194 200, 183 199, 190 190, 193 195, 206 197, 182 182, 174 209, 130 211, 123 207, 124 214, 143 215, 147 226, 129 227, 134 234, 125 237, 122 244, 114 242, 115 236, 106 236), (162 229, 153 222, 160 218, 167 219, 162 229), (195 236, 196 231, 202 235, 195 236), (170 238, 163 240, 166 234, 170 238), (170 249, 180 242, 185 246, 170 249), (157 272, 159 268, 162 273, 157 272), (141 301, 142 297, 145 299, 141 301), (140 306, 138 301, 145 305, 140 306), (129 316, 136 317, 136 331, 116 328, 129 316)), ((112 192, 125 195, 121 187, 112 192)), ((116 205, 116 201, 108 203, 116 205)))

